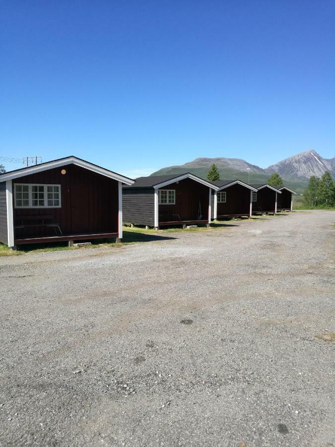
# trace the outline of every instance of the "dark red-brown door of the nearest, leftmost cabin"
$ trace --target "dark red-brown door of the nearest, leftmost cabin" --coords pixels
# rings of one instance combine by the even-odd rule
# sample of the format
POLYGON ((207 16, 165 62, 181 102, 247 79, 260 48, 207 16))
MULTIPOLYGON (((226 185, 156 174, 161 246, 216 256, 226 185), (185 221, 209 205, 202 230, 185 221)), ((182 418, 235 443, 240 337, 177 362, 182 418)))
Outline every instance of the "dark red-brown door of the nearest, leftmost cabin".
POLYGON ((71 232, 89 231, 88 183, 71 182, 71 232))

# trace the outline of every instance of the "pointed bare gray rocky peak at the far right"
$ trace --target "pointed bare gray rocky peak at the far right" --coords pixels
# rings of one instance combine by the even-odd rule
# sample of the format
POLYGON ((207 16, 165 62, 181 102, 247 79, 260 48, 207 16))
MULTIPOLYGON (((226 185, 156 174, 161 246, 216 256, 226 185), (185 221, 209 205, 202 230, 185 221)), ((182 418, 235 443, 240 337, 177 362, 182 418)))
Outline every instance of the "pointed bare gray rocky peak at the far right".
POLYGON ((279 175, 298 177, 321 177, 329 171, 335 177, 335 157, 331 159, 322 158, 315 150, 306 150, 292 157, 285 158, 268 167, 269 170, 278 172, 279 175))

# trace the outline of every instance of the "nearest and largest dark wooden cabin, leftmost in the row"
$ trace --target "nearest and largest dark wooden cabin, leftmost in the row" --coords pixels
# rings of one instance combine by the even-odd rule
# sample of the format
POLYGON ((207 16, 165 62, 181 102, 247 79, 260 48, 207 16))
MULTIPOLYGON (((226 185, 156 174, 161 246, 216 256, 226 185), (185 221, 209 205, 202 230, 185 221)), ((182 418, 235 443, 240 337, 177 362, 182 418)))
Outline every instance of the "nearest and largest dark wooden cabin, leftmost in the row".
POLYGON ((14 247, 120 239, 122 184, 133 182, 73 156, 6 172, 0 175, 0 241, 14 247))

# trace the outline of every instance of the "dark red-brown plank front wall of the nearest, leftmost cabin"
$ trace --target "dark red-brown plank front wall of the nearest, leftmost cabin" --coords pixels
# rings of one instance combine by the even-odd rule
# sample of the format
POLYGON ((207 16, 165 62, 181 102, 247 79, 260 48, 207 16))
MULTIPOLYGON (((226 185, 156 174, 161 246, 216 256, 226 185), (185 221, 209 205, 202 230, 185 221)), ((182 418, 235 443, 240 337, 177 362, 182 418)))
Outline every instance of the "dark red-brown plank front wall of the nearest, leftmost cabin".
MULTIPOLYGON (((53 216, 53 223, 59 224, 64 234, 118 231, 119 199, 116 180, 67 164, 13 180, 13 202, 15 183, 60 184, 62 207, 13 208, 14 224, 15 221, 19 222, 20 216, 53 216), (62 169, 66 169, 67 173, 61 174, 62 169)), ((31 227, 18 231, 20 237, 36 237, 50 234, 54 230, 31 227)))

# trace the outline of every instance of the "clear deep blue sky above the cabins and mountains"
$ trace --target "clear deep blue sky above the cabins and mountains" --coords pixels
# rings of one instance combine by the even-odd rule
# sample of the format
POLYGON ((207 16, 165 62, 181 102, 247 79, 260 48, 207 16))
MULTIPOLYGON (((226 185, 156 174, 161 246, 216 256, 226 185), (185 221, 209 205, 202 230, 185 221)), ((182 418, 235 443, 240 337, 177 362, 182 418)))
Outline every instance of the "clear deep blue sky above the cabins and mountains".
POLYGON ((201 156, 335 156, 334 0, 1 5, 2 156, 130 176, 201 156))

